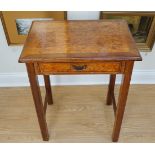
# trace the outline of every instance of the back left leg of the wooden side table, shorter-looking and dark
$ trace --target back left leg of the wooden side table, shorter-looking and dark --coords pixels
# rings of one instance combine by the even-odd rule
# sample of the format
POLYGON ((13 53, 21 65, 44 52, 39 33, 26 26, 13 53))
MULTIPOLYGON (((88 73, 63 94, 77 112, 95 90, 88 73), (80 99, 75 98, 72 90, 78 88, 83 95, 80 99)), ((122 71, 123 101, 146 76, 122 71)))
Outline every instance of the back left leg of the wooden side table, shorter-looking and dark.
POLYGON ((49 75, 44 75, 44 82, 45 82, 45 89, 46 89, 48 104, 53 104, 52 90, 51 90, 50 76, 49 75))

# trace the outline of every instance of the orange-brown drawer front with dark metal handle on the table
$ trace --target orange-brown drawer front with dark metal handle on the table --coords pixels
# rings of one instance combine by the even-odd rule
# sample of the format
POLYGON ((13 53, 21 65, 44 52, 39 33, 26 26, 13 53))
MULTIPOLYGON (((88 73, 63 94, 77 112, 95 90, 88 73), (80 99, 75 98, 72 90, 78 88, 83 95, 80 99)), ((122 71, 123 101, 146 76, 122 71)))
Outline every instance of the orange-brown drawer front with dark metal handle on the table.
POLYGON ((90 63, 39 63, 37 72, 40 74, 59 73, 121 73, 122 62, 90 62, 90 63))

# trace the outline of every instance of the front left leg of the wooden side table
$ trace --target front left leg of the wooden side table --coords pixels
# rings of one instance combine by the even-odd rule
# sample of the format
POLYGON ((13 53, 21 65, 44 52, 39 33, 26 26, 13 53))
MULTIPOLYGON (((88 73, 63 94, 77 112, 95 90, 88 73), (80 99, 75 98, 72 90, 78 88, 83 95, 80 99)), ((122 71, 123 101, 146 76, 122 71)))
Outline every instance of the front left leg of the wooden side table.
POLYGON ((29 81, 31 85, 33 100, 35 104, 35 109, 37 112, 38 121, 41 129, 41 133, 42 133, 42 138, 43 140, 48 141, 49 134, 48 134, 48 128, 47 128, 47 123, 46 123, 46 118, 45 118, 45 113, 44 113, 44 108, 43 108, 43 103, 41 98, 41 92, 39 88, 38 77, 35 73, 35 68, 33 63, 26 64, 26 66, 27 66, 29 81))

